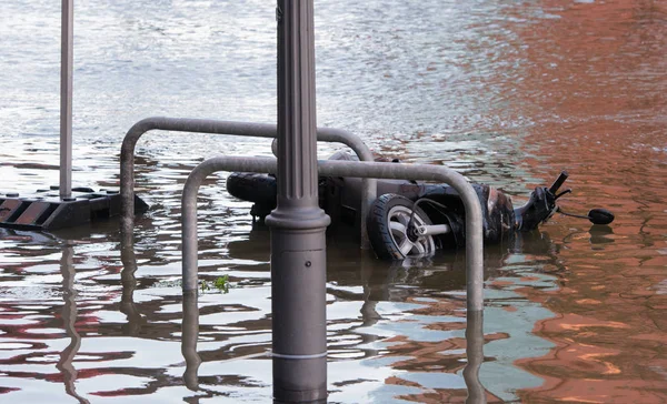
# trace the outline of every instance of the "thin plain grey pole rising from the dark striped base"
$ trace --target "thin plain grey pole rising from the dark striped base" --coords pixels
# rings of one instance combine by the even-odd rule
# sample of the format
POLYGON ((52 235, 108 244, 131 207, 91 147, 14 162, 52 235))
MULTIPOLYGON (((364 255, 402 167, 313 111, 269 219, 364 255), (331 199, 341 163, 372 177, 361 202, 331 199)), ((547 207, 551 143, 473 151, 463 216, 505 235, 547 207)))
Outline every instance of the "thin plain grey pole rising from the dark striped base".
POLYGON ((72 194, 73 0, 62 0, 60 42, 60 198, 72 194))

